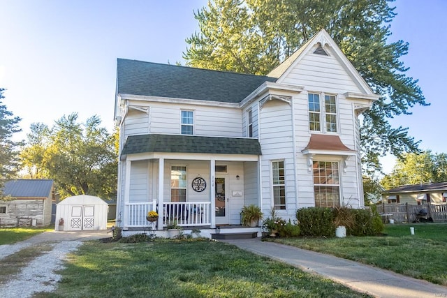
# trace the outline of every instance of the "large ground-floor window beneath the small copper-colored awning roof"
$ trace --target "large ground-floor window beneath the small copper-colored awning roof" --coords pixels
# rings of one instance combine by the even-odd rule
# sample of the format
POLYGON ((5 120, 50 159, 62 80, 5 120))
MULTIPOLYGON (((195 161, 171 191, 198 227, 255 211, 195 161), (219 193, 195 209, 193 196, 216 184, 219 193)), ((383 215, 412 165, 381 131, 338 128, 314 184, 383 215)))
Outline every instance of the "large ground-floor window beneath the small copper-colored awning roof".
POLYGON ((316 207, 339 207, 340 179, 337 161, 314 161, 314 195, 316 207))

